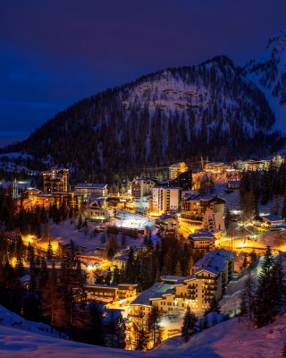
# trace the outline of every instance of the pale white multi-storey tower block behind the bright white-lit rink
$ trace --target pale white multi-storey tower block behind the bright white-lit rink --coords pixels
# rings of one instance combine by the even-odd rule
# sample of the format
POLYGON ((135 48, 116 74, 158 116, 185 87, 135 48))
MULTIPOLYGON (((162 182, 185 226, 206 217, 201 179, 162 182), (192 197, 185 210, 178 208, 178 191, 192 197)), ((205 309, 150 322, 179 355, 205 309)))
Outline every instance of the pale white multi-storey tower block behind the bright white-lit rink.
POLYGON ((162 214, 167 211, 181 210, 181 188, 168 186, 154 186, 152 191, 153 211, 162 214))

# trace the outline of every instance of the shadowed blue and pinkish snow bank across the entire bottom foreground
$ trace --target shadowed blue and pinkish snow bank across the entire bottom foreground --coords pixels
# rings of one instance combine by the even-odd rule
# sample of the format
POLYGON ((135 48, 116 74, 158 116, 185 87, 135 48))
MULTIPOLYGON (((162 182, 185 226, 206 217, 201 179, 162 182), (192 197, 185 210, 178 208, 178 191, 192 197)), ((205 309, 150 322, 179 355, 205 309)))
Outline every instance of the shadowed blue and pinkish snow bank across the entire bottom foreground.
POLYGON ((188 344, 183 344, 180 337, 172 337, 155 350, 142 353, 84 345, 0 325, 0 357, 278 358, 285 336, 286 314, 259 329, 233 319, 204 330, 188 344))

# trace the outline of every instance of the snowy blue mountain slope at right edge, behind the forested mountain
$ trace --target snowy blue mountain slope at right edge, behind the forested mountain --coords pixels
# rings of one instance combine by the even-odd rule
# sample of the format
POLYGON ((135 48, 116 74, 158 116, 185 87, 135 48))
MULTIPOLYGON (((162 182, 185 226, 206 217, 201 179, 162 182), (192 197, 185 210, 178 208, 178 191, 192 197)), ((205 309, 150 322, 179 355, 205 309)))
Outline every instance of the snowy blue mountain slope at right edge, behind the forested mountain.
POLYGON ((286 119, 286 26, 269 38, 265 53, 250 61, 243 75, 265 92, 275 112, 275 127, 285 132, 286 119))

